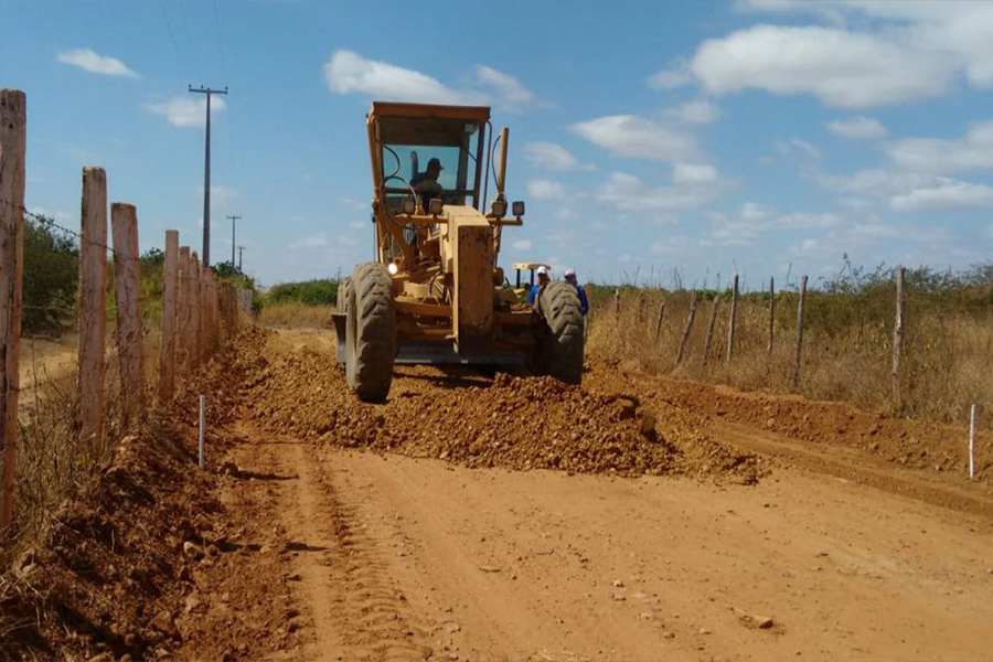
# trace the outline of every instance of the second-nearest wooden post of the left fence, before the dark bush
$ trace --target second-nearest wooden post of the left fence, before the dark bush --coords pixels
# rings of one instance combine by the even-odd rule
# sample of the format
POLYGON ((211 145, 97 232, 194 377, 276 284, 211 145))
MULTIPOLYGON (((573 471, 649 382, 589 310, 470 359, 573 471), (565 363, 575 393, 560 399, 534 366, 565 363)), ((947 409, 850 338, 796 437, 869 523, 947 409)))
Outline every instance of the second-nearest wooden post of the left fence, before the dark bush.
POLYGON ((79 233, 79 418, 89 448, 104 441, 104 350, 107 338, 107 173, 83 169, 79 233))

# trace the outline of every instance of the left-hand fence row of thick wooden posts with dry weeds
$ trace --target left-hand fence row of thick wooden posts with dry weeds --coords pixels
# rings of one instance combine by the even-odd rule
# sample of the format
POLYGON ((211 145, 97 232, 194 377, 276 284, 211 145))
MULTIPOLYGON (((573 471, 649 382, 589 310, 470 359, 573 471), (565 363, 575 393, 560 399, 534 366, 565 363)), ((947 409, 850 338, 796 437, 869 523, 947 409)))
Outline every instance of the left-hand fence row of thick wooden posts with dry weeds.
POLYGON ((99 466, 110 441, 192 384, 194 372, 237 333, 241 318, 239 292, 180 246, 177 231, 166 232, 164 254, 141 255, 138 209, 113 202, 108 218, 104 169, 83 169, 78 232, 29 211, 24 150, 25 96, 0 90, 0 532, 7 543, 14 534, 30 537, 99 466), (70 273, 66 291, 44 305, 24 301, 24 288, 38 286, 56 263, 70 273), (151 291, 150 274, 161 279, 151 291), (30 317, 35 312, 47 317, 30 317), (72 320, 76 346, 66 346, 61 333, 22 339, 25 313, 32 323, 72 320), (41 345, 54 349, 45 354, 41 345))

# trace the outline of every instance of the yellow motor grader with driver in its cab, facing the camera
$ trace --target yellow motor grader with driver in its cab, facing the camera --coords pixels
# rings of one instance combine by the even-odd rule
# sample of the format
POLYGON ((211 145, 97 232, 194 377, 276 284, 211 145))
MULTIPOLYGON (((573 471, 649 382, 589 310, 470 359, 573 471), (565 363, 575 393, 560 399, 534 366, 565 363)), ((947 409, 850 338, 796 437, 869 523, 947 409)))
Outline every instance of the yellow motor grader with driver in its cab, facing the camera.
POLYGON ((503 229, 524 222, 504 193, 508 129, 494 135, 488 107, 382 102, 366 129, 375 258, 342 280, 332 316, 351 388, 384 401, 395 363, 523 366, 578 384, 575 288, 548 282, 528 307, 498 264, 503 229))

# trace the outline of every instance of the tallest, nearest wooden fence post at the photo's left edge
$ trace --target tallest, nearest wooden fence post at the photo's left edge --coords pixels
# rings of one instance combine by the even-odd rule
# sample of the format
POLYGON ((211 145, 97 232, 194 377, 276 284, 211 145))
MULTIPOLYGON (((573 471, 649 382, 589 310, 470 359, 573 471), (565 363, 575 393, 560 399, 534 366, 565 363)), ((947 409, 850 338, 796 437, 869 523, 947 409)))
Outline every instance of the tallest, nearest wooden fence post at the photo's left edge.
POLYGON ((20 429, 26 115, 23 92, 0 89, 0 538, 10 535, 13 521, 14 458, 20 429))

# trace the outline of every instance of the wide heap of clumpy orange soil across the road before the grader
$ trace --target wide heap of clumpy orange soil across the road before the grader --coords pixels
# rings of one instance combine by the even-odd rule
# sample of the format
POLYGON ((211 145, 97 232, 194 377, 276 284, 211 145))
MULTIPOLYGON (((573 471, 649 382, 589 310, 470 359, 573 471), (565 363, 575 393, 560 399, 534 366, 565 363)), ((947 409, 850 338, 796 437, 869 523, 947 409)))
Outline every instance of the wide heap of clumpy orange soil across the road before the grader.
POLYGON ((688 413, 643 406, 551 377, 492 382, 433 367, 397 367, 385 405, 360 403, 330 353, 267 350, 246 386, 267 429, 345 447, 439 458, 469 467, 620 476, 695 474, 751 483, 755 457, 714 442, 688 413))

